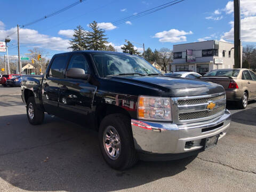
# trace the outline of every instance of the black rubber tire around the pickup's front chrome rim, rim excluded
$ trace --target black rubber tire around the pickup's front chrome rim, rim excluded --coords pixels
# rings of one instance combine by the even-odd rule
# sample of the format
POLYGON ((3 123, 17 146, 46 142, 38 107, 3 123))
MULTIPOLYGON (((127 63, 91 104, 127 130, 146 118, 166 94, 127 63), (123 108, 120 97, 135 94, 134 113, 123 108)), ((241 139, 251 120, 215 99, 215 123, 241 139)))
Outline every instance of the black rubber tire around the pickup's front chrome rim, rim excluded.
MULTIPOLYGON (((99 128, 99 143, 103 158, 107 164, 116 170, 125 170, 132 167, 138 160, 137 153, 134 148, 131 119, 122 114, 111 114, 103 118, 99 128), (107 150, 105 150, 105 142, 103 135, 109 127, 114 127, 121 142, 121 150, 116 159, 110 158, 107 150)), ((111 147, 110 147, 111 148, 111 147)))

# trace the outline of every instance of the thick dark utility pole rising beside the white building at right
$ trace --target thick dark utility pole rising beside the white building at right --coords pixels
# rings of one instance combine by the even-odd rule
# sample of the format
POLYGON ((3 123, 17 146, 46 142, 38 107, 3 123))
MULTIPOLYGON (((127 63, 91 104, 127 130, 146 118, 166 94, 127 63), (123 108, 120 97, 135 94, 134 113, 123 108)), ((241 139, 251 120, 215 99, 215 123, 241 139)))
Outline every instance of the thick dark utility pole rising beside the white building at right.
POLYGON ((235 68, 242 68, 241 66, 241 18, 240 18, 240 0, 234 0, 234 60, 235 68))

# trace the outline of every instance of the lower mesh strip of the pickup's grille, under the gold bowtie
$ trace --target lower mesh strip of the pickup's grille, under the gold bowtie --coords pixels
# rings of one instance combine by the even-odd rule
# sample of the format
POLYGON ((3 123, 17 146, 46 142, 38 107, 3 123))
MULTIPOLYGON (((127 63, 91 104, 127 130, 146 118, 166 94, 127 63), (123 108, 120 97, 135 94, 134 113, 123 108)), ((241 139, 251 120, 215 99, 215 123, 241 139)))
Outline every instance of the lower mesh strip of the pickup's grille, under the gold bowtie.
POLYGON ((220 106, 210 111, 203 110, 203 111, 196 111, 192 113, 182 113, 182 114, 179 114, 179 120, 189 120, 189 119, 209 117, 209 116, 220 113, 221 111, 225 110, 225 108, 226 106, 220 106))

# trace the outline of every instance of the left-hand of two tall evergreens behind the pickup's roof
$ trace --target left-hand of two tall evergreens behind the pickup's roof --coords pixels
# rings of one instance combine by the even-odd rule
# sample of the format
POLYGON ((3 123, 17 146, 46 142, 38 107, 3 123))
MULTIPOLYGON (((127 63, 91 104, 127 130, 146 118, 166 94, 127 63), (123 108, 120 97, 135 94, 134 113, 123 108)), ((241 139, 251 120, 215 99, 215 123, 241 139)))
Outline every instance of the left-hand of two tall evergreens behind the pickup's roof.
POLYGON ((85 43, 85 34, 86 31, 83 27, 77 26, 76 29, 74 29, 74 38, 69 41, 71 46, 68 48, 71 48, 73 51, 87 50, 88 47, 85 43))

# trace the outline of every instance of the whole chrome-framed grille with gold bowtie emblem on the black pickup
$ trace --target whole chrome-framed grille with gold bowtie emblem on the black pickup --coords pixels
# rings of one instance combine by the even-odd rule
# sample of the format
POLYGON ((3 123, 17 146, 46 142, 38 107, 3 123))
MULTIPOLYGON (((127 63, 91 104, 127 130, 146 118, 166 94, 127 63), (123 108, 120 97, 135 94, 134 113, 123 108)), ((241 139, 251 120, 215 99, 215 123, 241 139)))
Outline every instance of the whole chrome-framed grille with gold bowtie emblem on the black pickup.
POLYGON ((173 123, 206 121, 225 112, 226 93, 172 98, 173 123))

